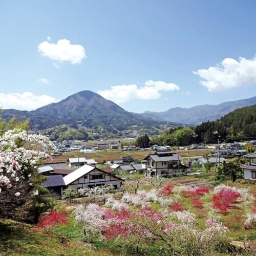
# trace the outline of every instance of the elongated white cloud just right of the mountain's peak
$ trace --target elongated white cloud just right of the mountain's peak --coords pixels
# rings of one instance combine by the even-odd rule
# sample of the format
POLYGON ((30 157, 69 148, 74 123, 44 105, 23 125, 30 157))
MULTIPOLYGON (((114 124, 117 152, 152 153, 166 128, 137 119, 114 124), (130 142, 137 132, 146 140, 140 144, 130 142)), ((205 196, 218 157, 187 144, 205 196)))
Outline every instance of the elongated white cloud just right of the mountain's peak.
POLYGON ((180 90, 175 83, 147 80, 142 87, 138 87, 137 84, 123 84, 112 86, 111 90, 98 91, 98 94, 116 103, 122 103, 131 99, 158 99, 161 96, 161 91, 175 90, 180 90))

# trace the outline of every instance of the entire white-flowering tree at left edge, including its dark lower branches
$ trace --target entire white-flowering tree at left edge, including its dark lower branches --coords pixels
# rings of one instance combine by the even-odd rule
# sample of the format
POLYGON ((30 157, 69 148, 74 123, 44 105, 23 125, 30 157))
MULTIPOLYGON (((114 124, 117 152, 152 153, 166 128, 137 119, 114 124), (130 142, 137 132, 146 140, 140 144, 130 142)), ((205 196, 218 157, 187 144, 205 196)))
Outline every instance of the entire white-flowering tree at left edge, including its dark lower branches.
POLYGON ((46 150, 54 145, 42 135, 13 129, 0 136, 0 215, 14 217, 20 207, 28 208, 29 200, 38 195, 44 177, 37 173, 40 158, 48 158, 44 151, 27 149, 35 143, 46 150))

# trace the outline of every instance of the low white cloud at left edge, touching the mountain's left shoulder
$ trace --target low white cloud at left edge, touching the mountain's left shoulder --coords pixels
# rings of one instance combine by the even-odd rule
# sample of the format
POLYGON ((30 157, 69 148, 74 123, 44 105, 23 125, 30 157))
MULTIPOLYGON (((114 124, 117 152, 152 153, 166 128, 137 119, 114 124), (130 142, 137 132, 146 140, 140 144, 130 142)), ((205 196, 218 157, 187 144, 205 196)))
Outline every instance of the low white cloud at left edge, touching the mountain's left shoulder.
POLYGON ((20 93, 0 93, 0 107, 3 109, 35 110, 59 100, 48 95, 34 95, 31 92, 20 93))

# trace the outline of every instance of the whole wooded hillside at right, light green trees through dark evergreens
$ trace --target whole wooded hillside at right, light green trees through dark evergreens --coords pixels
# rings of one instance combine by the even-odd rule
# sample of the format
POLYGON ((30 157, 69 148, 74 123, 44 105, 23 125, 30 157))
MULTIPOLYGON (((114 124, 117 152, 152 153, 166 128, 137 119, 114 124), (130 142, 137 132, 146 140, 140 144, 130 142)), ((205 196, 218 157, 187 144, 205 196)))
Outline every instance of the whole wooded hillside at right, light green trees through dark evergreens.
POLYGON ((220 141, 252 140, 256 138, 256 105, 234 110, 216 121, 196 127, 169 129, 152 136, 151 145, 186 146, 191 143, 216 143, 220 141))

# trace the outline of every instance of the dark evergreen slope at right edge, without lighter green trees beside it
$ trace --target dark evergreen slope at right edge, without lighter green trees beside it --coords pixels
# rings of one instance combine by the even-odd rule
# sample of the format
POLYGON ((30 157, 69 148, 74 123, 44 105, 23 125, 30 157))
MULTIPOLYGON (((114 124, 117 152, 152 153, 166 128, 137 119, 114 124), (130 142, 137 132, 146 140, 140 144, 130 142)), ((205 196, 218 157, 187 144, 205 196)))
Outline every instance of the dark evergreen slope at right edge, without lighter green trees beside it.
POLYGON ((234 110, 213 122, 204 122, 194 129, 198 141, 251 140, 256 138, 256 105, 234 110))

